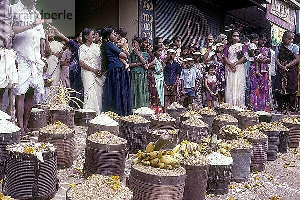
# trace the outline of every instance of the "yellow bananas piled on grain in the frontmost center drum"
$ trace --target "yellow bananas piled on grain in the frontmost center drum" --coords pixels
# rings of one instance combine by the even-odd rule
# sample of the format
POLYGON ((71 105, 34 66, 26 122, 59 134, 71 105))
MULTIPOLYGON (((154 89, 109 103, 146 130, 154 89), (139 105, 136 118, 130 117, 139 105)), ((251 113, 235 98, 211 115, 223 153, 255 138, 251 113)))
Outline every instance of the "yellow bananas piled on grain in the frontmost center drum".
POLYGON ((144 152, 139 150, 136 153, 136 157, 132 159, 132 165, 142 163, 144 166, 174 169, 178 168, 184 159, 179 153, 166 150, 153 151, 154 148, 155 143, 150 142, 144 152))

